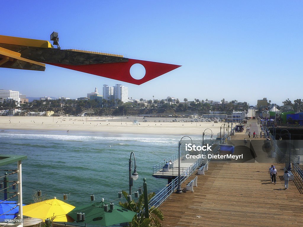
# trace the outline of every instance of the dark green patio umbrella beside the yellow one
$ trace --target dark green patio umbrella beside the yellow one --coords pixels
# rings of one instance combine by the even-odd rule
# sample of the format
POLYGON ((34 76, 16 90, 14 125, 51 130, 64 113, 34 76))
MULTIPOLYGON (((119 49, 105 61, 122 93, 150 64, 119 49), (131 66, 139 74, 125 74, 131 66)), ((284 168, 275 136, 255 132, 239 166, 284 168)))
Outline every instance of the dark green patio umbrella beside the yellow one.
POLYGON ((105 202, 96 202, 91 205, 76 206, 75 209, 73 209, 67 215, 78 223, 82 222, 87 224, 109 226, 123 222, 131 222, 136 214, 136 212, 125 209, 116 204, 106 205, 105 202), (107 210, 106 208, 108 208, 108 211, 105 211, 107 210), (80 220, 81 217, 83 218, 83 215, 81 216, 80 213, 85 213, 85 220, 80 220))

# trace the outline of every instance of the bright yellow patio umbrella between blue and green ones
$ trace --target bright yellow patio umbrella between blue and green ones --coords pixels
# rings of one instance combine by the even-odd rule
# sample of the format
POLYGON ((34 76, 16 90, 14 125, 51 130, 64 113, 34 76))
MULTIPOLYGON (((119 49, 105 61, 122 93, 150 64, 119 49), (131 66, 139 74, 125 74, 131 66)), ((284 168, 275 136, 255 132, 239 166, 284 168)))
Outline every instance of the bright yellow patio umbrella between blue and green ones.
POLYGON ((40 218, 43 221, 47 218, 55 217, 55 222, 67 222, 66 214, 74 208, 75 206, 56 199, 55 197, 54 199, 23 206, 23 215, 32 218, 40 218))

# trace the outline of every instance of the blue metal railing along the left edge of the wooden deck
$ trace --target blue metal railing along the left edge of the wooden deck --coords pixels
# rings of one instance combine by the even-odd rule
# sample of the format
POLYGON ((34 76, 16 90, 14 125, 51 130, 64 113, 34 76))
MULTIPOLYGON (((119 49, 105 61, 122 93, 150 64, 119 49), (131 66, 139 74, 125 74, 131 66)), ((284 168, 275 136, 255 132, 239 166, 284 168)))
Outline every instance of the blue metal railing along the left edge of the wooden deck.
MULTIPOLYGON (((208 154, 218 154, 220 146, 215 147, 212 151, 208 151, 206 153, 206 156, 208 157, 208 154)), ((207 159, 208 162, 210 162, 210 158, 207 159)), ((181 172, 180 176, 180 182, 181 184, 189 177, 192 173, 196 171, 200 166, 202 165, 202 159, 198 159, 194 164, 186 168, 185 171, 181 172)), ((162 166, 163 167, 163 166, 162 166)), ((178 167, 176 167, 178 168, 178 167)), ((178 188, 178 178, 175 178, 171 183, 167 184, 163 189, 161 189, 149 202, 149 207, 160 206, 177 188, 178 188)))

